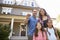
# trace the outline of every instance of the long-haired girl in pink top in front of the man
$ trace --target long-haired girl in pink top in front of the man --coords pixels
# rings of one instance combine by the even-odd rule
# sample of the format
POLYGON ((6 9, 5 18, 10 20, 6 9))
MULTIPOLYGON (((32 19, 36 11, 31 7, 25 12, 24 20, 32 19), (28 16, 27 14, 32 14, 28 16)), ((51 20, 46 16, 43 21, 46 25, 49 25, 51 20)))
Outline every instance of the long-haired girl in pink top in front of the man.
POLYGON ((40 22, 36 24, 33 40, 47 40, 46 32, 44 31, 42 24, 40 22))

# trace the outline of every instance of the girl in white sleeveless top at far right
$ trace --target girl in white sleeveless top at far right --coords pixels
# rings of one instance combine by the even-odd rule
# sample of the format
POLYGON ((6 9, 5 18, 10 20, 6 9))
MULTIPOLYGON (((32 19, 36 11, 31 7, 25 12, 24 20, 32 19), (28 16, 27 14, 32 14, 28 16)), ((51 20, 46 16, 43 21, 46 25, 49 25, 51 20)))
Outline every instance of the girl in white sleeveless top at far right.
POLYGON ((57 40, 57 30, 52 25, 52 20, 47 21, 47 36, 48 40, 57 40))

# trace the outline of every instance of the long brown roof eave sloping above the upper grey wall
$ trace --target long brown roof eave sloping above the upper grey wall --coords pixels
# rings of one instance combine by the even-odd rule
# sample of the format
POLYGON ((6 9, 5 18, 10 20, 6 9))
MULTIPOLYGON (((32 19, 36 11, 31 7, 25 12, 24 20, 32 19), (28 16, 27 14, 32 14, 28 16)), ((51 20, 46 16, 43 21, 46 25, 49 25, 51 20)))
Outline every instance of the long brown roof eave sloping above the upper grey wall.
POLYGON ((10 8, 20 8, 20 9, 39 9, 39 7, 31 7, 31 6, 24 6, 24 5, 11 5, 11 4, 0 4, 0 7, 10 7, 10 8))

